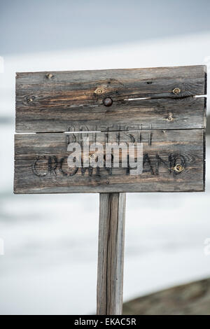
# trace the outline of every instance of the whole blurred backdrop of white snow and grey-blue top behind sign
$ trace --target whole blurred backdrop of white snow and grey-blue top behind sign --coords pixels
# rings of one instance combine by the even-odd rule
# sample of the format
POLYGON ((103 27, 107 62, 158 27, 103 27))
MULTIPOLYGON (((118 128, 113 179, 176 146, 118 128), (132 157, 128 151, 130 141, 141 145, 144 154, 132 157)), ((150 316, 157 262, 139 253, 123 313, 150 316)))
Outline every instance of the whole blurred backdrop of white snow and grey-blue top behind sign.
MULTIPOLYGON (((13 195, 15 71, 209 65, 209 14, 208 0, 0 1, 0 314, 96 310, 99 195, 13 195)), ((207 135, 205 193, 127 193, 125 302, 210 277, 209 160, 207 135)))

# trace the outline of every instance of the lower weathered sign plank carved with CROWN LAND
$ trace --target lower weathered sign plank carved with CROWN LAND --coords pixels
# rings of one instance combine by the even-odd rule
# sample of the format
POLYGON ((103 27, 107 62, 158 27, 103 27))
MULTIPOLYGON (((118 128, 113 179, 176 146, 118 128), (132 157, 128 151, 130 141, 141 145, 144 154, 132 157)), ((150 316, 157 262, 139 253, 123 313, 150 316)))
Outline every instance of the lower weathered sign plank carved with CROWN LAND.
POLYGON ((204 130, 15 135, 15 193, 182 192, 204 190, 204 130), (67 146, 94 141, 144 144, 144 171, 69 169, 67 146), (177 173, 174 167, 183 166, 177 173))

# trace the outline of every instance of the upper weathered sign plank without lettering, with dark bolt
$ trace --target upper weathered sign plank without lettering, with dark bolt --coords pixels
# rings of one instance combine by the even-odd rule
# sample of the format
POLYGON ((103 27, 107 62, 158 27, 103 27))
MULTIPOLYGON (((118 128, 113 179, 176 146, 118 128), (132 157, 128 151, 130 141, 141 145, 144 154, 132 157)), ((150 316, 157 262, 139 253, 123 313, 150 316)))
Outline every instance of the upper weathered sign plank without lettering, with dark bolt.
MULTIPOLYGON (((155 106, 156 108, 160 106, 159 116, 156 119, 163 120, 160 115, 161 109, 165 110, 163 105, 160 102, 153 103, 151 108, 149 106, 147 108, 147 103, 139 104, 132 100, 130 102, 125 102, 125 100, 142 97, 179 99, 206 94, 206 71, 206 66, 201 65, 153 69, 17 73, 16 130, 17 132, 57 132, 59 128, 63 132, 68 131, 72 123, 75 125, 75 120, 79 120, 79 124, 83 125, 83 120, 85 124, 88 119, 95 120, 94 125, 99 124, 98 129, 101 130, 101 121, 104 121, 103 125, 107 125, 105 115, 108 125, 110 123, 113 125, 116 124, 116 114, 119 115, 122 125, 127 125, 124 119, 128 119, 130 124, 133 115, 133 120, 138 120, 137 124, 148 125, 147 115, 151 111, 151 117, 153 117, 155 106), (178 90, 178 93, 174 90, 178 90), (104 106, 106 97, 111 97, 112 106, 104 106), (132 116, 128 118, 130 111, 132 116), (144 111, 146 113, 141 122, 139 116, 144 111), (88 118, 89 115, 91 118, 88 118)), ((167 104, 164 104, 167 108, 167 104)), ((173 104, 169 104, 168 110, 162 111, 162 114, 172 111, 173 107, 173 104)), ((164 118, 167 120, 166 117, 164 118)), ((162 129, 162 127, 166 129, 165 120, 161 121, 159 127, 157 125, 155 129, 162 129)), ((154 123, 155 117, 153 125, 154 123)), ((199 124, 199 127, 202 127, 202 120, 199 124)), ((168 124, 168 127, 173 125, 174 123, 168 124)))

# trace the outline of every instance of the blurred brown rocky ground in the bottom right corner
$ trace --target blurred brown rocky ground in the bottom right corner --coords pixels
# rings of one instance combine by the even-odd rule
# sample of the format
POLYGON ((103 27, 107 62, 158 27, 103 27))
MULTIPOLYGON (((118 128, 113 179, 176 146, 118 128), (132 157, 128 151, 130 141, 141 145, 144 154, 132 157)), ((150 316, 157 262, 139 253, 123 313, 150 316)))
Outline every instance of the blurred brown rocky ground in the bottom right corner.
POLYGON ((210 279, 184 284, 123 304, 123 314, 210 315, 210 279))

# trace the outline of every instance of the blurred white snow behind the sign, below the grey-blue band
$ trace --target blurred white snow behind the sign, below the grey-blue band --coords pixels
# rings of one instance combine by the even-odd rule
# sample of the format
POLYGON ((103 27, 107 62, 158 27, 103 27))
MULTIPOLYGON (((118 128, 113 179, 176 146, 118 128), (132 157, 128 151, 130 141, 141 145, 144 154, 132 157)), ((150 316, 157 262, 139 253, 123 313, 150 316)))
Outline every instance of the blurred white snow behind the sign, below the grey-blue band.
MULTIPOLYGON (((44 51, 27 51, 22 36, 22 52, 1 54, 0 48, 0 314, 94 314, 96 308, 99 195, 13 195, 15 71, 210 63, 210 28, 191 29, 90 47, 68 47, 68 41, 65 49, 44 51)), ((210 276, 210 255, 204 254, 210 238, 209 160, 207 139, 205 193, 127 193, 125 301, 210 276)))

